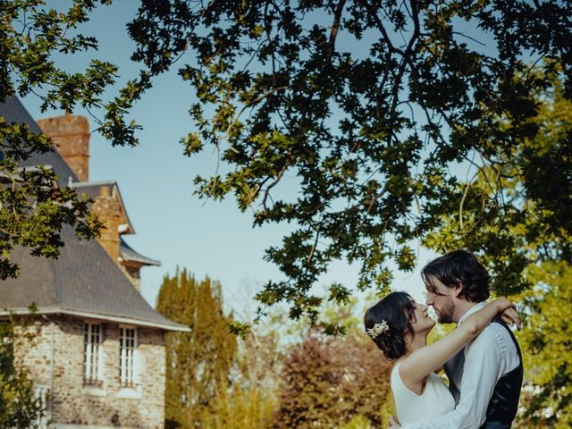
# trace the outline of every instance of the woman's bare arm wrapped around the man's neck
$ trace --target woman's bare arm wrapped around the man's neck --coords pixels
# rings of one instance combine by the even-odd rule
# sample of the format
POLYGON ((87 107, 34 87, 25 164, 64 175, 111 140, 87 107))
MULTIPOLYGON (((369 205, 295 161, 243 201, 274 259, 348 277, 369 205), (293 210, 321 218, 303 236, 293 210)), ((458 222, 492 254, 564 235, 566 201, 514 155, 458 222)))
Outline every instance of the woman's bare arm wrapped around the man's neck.
POLYGON ((458 350, 473 340, 492 319, 508 308, 514 307, 508 299, 495 299, 490 304, 469 315, 463 323, 453 332, 428 346, 416 349, 411 355, 403 359, 400 366, 400 377, 408 386, 422 383, 425 377, 441 367, 458 350))

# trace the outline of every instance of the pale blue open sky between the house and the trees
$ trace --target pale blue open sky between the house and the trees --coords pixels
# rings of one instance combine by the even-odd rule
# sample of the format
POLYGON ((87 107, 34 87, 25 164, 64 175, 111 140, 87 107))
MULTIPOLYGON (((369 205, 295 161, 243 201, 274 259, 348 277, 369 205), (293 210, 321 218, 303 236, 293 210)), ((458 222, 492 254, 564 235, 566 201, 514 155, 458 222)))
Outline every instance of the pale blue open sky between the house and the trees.
MULTIPOLYGON (((99 51, 92 56, 119 65, 120 82, 134 78, 138 71, 129 60, 133 44, 124 27, 138 4, 120 1, 111 7, 99 7, 92 21, 82 27, 84 34, 99 40, 99 51)), ((58 58, 57 63, 68 71, 82 71, 86 58, 58 58)), ((179 140, 193 130, 187 114, 192 97, 192 89, 175 71, 157 79, 154 88, 132 110, 132 117, 144 127, 139 132, 139 147, 111 147, 99 134, 92 134, 89 180, 118 181, 136 231, 124 236, 125 240, 143 255, 162 262, 141 273, 142 293, 151 305, 155 306, 163 276, 174 273, 178 265, 187 267, 198 278, 209 275, 220 281, 225 304, 243 314, 256 309, 250 297, 265 282, 281 278, 263 256, 265 248, 280 243, 289 227, 265 225, 253 229, 251 214, 240 213, 232 199, 205 203, 193 195, 194 177, 214 172, 216 157, 210 149, 190 158, 182 155, 179 140)), ((60 114, 41 114, 38 98, 33 96, 23 103, 36 119, 60 114)), ((86 113, 77 110, 74 114, 86 113)), ((420 249, 419 265, 434 256, 420 249)), ((334 281, 352 287, 357 282, 357 267, 345 262, 333 264, 321 284, 334 281)), ((423 299, 418 268, 414 273, 395 272, 394 285, 397 290, 408 290, 415 299, 423 299)))

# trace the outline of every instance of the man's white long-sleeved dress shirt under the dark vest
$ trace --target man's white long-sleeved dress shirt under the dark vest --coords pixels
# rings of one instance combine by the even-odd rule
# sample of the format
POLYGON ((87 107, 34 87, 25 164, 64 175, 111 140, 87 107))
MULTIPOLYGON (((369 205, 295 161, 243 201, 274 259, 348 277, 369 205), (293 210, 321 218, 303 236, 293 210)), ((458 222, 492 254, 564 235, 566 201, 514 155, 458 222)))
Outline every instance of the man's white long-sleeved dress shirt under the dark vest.
MULTIPOLYGON (((479 302, 458 321, 458 326, 468 315, 486 305, 479 302)), ((486 419, 486 409, 492 392, 502 375, 520 364, 517 348, 509 332, 501 324, 489 324, 465 347, 465 366, 457 407, 447 414, 428 419, 404 429, 478 429, 486 419)))

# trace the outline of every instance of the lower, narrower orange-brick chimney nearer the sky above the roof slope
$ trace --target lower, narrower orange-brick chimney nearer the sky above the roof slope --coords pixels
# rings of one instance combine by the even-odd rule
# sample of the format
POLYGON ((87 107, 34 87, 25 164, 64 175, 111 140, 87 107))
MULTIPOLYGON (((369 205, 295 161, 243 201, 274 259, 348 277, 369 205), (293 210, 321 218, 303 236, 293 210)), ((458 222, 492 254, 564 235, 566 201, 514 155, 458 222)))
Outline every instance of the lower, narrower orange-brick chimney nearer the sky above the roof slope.
POLYGON ((119 199, 114 195, 113 185, 102 186, 95 198, 91 212, 104 223, 105 229, 99 236, 99 244, 115 264, 119 263, 119 225, 123 223, 119 199))

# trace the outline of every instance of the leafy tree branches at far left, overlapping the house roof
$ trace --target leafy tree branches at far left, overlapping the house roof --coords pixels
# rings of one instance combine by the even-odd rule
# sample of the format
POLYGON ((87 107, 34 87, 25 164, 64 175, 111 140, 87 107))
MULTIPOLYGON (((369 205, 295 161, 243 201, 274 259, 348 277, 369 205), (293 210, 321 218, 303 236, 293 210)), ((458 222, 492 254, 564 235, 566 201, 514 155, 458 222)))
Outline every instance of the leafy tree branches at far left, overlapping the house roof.
MULTIPOLYGON (((114 64, 94 59, 84 72, 70 73, 54 59, 56 54, 97 50, 97 39, 78 29, 97 3, 111 2, 74 0, 66 11, 48 8, 42 0, 0 2, 0 104, 15 95, 34 94, 42 100, 42 112, 71 112, 78 106, 90 112, 101 109, 103 118, 94 116, 97 132, 114 145, 134 145, 139 126, 127 123, 124 116, 138 98, 139 87, 129 82, 118 97, 104 102, 102 94, 117 77, 114 64), (129 102, 123 97, 127 94, 129 102)), ((33 255, 57 257, 64 226, 70 225, 83 239, 97 236, 102 226, 89 214, 89 201, 58 186, 49 168, 21 168, 32 154, 51 147, 50 139, 35 134, 27 124, 0 117, 0 280, 18 275, 19 267, 10 258, 14 246, 30 248, 33 255)))

